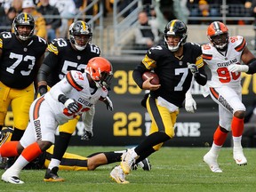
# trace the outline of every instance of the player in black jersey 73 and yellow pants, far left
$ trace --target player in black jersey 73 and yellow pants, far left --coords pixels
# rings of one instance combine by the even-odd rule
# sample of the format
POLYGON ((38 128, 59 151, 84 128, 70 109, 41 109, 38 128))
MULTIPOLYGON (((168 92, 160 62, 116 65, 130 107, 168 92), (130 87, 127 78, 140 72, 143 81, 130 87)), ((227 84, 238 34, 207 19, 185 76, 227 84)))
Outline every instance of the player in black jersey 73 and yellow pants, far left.
POLYGON ((0 35, 0 130, 12 106, 14 132, 20 140, 28 125, 28 110, 34 100, 36 75, 44 60, 46 41, 34 35, 35 20, 22 12, 13 20, 13 33, 0 35))

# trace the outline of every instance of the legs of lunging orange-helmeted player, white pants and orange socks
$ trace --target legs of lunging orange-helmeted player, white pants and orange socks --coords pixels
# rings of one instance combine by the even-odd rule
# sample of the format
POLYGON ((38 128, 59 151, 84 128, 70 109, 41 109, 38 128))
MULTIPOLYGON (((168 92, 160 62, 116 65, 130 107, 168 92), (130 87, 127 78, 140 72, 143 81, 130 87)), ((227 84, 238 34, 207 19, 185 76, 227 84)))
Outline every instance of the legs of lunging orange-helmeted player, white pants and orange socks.
MULTIPOLYGON (((24 132, 19 144, 16 145, 18 146, 16 149, 17 154, 21 154, 15 163, 4 172, 2 180, 14 184, 22 184, 23 181, 19 179, 20 171, 52 145, 57 126, 58 122, 55 120, 51 111, 49 111, 49 106, 44 102, 44 98, 36 100, 30 108, 30 123, 28 124, 28 128, 24 132)), ((3 156, 4 148, 7 148, 5 145, 9 146, 12 143, 15 144, 15 142, 17 141, 4 143, 1 147, 1 156, 3 156)), ((14 150, 13 148, 12 150, 14 150)), ((9 151, 8 156, 11 155, 15 154, 11 154, 9 151)))

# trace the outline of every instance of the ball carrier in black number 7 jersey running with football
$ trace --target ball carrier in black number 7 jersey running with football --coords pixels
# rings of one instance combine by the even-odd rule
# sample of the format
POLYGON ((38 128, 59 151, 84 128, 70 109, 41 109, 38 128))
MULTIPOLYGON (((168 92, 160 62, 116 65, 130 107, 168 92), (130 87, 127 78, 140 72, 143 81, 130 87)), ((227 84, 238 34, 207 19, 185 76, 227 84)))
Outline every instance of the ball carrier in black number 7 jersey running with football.
POLYGON ((123 180, 122 183, 127 183, 125 175, 130 173, 134 162, 150 156, 174 137, 174 124, 193 76, 198 84, 207 82, 201 47, 187 43, 187 36, 186 24, 171 20, 164 28, 164 45, 150 48, 133 70, 134 81, 141 89, 150 90, 146 107, 152 124, 148 137, 136 148, 128 149, 121 164, 110 172, 116 182, 123 180), (153 77, 143 82, 142 74, 150 70, 158 75, 160 84, 150 84, 153 77))

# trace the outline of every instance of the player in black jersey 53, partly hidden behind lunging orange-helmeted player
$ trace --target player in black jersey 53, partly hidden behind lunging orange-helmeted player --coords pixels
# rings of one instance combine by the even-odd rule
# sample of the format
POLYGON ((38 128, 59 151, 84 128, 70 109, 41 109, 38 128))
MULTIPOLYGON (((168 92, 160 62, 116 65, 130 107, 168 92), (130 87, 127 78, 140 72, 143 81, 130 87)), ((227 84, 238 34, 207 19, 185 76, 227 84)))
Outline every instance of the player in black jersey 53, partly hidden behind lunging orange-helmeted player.
MULTIPOLYGON (((100 56, 100 48, 92 44, 91 40, 92 28, 84 21, 77 20, 69 28, 69 39, 59 38, 49 44, 49 54, 45 57, 43 65, 38 72, 38 92, 41 95, 47 92, 47 85, 52 87, 54 84, 57 84, 68 71, 76 69, 84 72, 88 60, 100 56)), ((112 103, 108 97, 105 102, 107 101, 109 104, 108 109, 112 110, 112 103)), ((94 108, 83 114, 84 120, 89 117, 92 118, 93 114, 94 108), (91 115, 88 116, 88 113, 91 113, 91 115)), ((60 180, 57 172, 61 157, 68 148, 69 140, 72 133, 76 130, 76 123, 79 118, 80 116, 76 116, 75 119, 60 126, 60 136, 55 141, 54 153, 48 167, 49 170, 45 173, 45 181, 48 181, 46 178, 50 178, 49 175, 55 175, 54 178, 60 180)), ((89 120, 89 122, 92 121, 89 120)), ((83 138, 84 140, 90 140, 92 135, 92 124, 87 124, 83 138)), ((49 180, 52 181, 52 178, 49 180)))

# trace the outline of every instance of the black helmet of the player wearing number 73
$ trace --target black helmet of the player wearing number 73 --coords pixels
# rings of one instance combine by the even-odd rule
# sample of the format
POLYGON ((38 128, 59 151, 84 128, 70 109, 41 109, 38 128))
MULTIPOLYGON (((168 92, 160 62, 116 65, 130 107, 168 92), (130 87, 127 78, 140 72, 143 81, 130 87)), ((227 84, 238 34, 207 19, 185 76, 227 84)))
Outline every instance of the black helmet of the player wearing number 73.
POLYGON ((14 34, 20 38, 22 41, 28 40, 34 34, 35 30, 35 20, 34 18, 28 14, 27 12, 21 12, 17 15, 13 22, 12 28, 14 30, 14 34), (19 26, 29 26, 31 28, 30 31, 19 31, 19 26))

